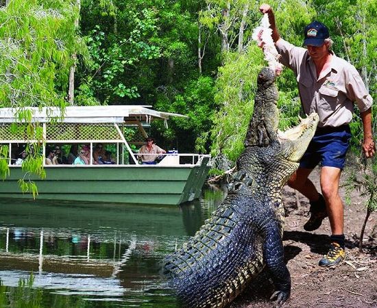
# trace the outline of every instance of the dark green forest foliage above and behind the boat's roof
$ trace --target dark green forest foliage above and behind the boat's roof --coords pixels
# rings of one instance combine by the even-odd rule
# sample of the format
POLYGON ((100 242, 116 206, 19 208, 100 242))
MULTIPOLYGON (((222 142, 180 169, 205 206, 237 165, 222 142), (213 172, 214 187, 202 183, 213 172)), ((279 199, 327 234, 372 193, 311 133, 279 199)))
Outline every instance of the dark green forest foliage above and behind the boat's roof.
POLYGON ((80 25, 91 57, 77 69, 76 102, 142 103, 162 111, 190 113, 194 116, 190 123, 169 120, 169 129, 164 123, 154 123, 152 133, 167 148, 208 151, 204 135, 212 125, 208 117, 213 112, 213 90, 208 85, 213 86, 219 47, 215 36, 204 38, 202 79, 197 68, 197 18, 203 3, 112 0, 114 14, 110 16, 104 5, 82 1, 80 25))

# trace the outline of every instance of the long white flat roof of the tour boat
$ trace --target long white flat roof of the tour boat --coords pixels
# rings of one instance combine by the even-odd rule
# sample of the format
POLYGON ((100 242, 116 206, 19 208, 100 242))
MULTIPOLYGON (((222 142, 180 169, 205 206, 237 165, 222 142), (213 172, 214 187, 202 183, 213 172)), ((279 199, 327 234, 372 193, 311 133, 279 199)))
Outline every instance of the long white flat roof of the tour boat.
POLYGON ((0 108, 0 123, 20 123, 21 112, 30 112, 32 122, 49 123, 51 118, 58 123, 124 123, 138 118, 150 122, 154 118, 167 120, 170 116, 187 118, 182 114, 159 112, 146 105, 106 105, 60 107, 17 107, 0 108))

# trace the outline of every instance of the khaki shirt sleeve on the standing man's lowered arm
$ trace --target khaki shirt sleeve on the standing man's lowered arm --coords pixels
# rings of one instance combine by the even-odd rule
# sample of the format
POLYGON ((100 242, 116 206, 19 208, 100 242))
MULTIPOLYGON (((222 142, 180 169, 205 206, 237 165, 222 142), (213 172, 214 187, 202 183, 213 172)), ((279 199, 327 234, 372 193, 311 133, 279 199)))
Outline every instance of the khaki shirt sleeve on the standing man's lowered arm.
POLYGON ((373 99, 369 95, 367 88, 365 88, 363 79, 356 68, 354 68, 348 75, 348 82, 345 84, 345 87, 348 92, 348 97, 351 101, 356 102, 360 112, 365 112, 372 107, 373 99))

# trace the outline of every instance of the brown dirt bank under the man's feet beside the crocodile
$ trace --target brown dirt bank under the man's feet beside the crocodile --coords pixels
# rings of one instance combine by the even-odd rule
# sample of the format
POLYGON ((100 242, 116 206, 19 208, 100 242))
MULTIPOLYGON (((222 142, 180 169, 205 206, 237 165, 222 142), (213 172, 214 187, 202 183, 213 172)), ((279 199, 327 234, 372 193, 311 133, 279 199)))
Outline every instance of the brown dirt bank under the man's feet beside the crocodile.
MULTIPOLYGON (((317 185, 319 170, 314 170, 311 179, 317 185)), ((342 180, 345 175, 342 175, 342 180)), ((318 187, 318 186, 317 186, 318 187)), ((341 188, 344 200, 345 191, 341 188)), ((328 218, 313 232, 302 228, 308 219, 307 199, 291 188, 284 188, 286 207, 284 231, 284 257, 291 272, 291 297, 283 307, 333 308, 377 307, 377 213, 369 217, 364 235, 364 253, 358 253, 358 237, 365 219, 364 200, 352 192, 352 205, 345 205, 345 245, 347 257, 339 266, 321 268, 318 261, 327 252, 330 224, 328 218)), ((273 287, 268 273, 261 273, 231 308, 273 307, 269 297, 273 287)))

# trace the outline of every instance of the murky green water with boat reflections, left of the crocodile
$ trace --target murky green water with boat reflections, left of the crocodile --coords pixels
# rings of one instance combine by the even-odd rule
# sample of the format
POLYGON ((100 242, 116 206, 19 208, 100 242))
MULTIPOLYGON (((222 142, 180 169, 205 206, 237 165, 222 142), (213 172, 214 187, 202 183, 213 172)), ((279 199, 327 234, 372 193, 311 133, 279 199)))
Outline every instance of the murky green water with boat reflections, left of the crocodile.
POLYGON ((34 273, 41 307, 177 307, 160 262, 222 200, 204 190, 181 207, 0 201, 0 278, 34 273))

